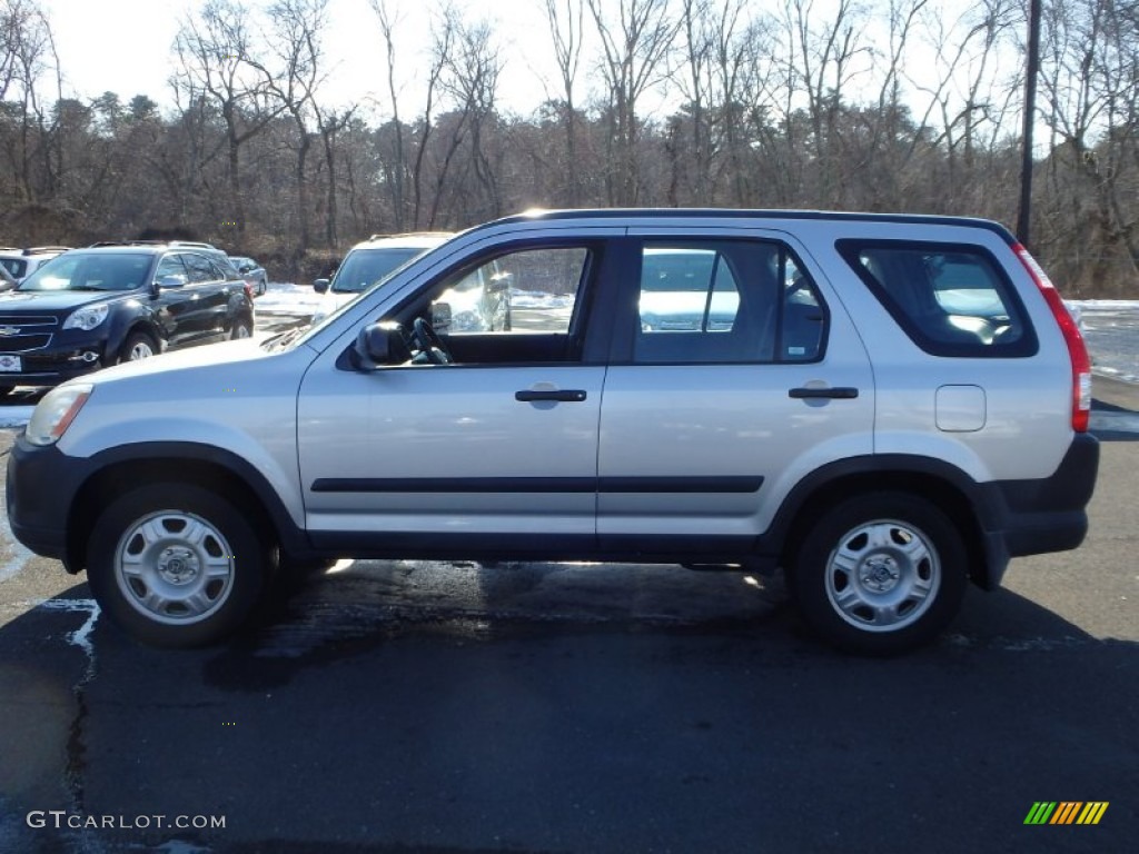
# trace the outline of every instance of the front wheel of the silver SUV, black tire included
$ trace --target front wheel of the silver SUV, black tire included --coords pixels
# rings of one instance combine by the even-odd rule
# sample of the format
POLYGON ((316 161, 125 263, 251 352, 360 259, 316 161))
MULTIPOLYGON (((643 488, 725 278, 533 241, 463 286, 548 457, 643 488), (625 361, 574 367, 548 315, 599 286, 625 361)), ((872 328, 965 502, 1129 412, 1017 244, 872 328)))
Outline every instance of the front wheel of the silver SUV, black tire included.
POLYGON ((137 640, 199 647, 246 621, 270 553, 246 515, 216 493, 153 484, 115 499, 96 520, 88 582, 103 611, 137 640))

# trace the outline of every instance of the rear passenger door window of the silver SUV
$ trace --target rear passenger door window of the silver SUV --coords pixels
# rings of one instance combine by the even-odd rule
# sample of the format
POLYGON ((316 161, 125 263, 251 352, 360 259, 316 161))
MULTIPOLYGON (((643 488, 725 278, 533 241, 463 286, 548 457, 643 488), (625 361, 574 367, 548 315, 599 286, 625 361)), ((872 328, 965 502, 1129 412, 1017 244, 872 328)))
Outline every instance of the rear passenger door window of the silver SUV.
POLYGON ((779 244, 646 244, 639 285, 637 362, 805 362, 822 354, 822 302, 779 244))

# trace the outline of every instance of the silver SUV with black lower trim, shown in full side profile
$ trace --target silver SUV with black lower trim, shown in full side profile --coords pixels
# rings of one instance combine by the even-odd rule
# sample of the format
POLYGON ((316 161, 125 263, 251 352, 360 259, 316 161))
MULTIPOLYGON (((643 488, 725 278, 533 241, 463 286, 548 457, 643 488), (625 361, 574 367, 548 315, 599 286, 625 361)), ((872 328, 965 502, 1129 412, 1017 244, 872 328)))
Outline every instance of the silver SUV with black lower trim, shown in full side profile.
POLYGON ((232 632, 289 565, 590 559, 781 568, 888 654, 1087 531, 1087 351, 992 222, 530 214, 227 346, 56 388, 10 455, 16 536, 148 642, 232 632), (442 331, 470 281, 507 328, 442 331))

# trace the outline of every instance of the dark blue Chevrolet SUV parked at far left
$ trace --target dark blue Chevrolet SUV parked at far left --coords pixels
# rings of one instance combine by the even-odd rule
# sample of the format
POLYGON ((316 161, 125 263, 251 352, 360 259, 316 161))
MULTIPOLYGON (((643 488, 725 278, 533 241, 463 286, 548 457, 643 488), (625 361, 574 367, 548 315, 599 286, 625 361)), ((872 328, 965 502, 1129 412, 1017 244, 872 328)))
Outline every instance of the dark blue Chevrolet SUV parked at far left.
POLYGON ((72 249, 0 294, 0 395, 252 334, 248 286, 196 251, 72 249))

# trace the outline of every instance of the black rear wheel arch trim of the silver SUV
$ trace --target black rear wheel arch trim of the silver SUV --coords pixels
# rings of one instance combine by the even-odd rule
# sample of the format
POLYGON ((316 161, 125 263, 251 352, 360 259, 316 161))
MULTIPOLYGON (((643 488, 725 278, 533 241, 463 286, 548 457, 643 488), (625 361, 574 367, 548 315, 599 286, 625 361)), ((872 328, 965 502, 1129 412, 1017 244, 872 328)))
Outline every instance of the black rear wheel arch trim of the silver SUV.
POLYGON ((949 463, 901 454, 844 460, 816 471, 793 490, 772 525, 780 565, 793 570, 798 544, 823 512, 875 492, 920 495, 933 503, 961 533, 970 581, 986 590, 999 584, 1008 557, 985 534, 991 527, 986 523, 1000 512, 989 492, 949 463))

